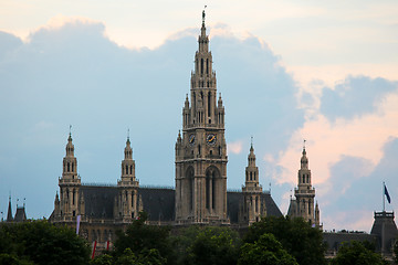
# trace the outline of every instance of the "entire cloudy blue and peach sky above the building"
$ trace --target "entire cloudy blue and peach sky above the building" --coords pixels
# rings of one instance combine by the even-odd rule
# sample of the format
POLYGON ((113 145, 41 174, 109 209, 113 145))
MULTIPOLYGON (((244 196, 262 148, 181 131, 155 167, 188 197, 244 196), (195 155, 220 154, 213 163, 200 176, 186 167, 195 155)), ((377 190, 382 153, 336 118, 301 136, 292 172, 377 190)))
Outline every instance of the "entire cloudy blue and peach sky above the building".
POLYGON ((84 183, 172 187, 201 11, 226 107, 228 188, 250 139, 283 213, 306 140, 325 230, 398 205, 397 1, 0 0, 0 211, 49 218, 72 125, 84 183))

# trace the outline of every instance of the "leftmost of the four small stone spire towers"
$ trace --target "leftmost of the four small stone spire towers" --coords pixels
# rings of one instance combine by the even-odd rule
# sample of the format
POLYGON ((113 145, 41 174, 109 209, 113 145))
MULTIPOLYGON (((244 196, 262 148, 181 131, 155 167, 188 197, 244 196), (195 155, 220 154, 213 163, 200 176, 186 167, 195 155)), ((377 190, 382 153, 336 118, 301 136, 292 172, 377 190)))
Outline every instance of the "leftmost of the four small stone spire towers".
POLYGON ((77 159, 74 156, 71 130, 65 150, 66 156, 63 158, 62 177, 59 179, 60 198, 56 194, 54 201, 55 215, 57 215, 55 218, 63 221, 72 221, 73 218, 81 214, 82 206, 78 194, 82 183, 77 174, 77 159))

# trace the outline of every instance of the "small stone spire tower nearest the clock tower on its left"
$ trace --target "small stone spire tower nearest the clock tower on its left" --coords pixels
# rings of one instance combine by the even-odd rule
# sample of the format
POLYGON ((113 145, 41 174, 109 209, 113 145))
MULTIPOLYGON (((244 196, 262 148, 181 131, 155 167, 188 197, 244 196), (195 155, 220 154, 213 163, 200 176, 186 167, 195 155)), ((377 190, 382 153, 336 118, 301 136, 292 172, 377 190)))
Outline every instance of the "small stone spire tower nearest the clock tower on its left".
POLYGON ((115 211, 117 219, 123 222, 129 222, 138 216, 139 197, 138 180, 135 176, 135 161, 133 160, 133 148, 127 136, 126 147, 124 150, 124 160, 122 161, 122 178, 117 181, 117 198, 115 211))

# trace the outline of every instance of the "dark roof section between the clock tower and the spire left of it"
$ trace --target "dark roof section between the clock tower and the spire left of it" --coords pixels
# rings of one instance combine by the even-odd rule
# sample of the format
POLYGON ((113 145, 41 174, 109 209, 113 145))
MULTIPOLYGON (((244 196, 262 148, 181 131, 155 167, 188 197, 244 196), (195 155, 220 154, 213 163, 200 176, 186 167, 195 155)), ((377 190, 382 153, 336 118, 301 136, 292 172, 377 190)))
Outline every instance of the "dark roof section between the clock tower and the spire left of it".
POLYGON ((150 221, 174 221, 175 190, 170 188, 139 188, 144 211, 150 221))

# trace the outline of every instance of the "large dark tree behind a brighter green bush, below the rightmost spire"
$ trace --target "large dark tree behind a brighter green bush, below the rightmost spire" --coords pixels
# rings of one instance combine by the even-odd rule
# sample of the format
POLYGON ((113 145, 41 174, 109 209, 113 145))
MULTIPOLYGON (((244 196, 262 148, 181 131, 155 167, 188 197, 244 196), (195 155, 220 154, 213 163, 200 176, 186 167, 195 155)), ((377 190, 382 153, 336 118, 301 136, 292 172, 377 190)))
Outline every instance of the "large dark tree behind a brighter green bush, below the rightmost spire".
POLYGON ((311 227, 303 219, 264 218, 249 227, 244 242, 254 243, 265 233, 273 234, 298 264, 326 264, 322 231, 311 227))

